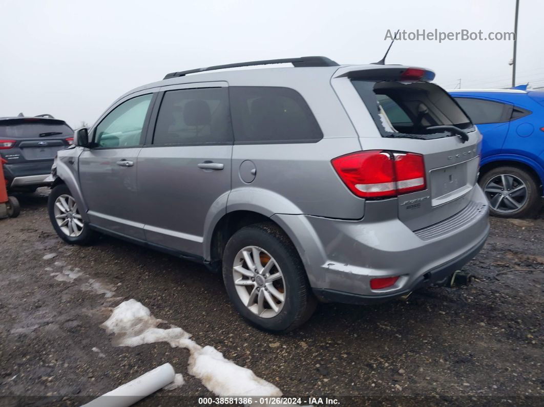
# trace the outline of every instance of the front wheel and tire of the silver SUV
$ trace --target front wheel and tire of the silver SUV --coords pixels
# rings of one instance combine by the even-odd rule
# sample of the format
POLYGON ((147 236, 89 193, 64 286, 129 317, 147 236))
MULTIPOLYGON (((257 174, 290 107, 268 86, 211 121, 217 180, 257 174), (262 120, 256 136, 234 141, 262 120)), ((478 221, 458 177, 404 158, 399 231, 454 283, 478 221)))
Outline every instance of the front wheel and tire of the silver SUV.
POLYGON ((96 231, 83 222, 76 199, 65 184, 59 184, 51 190, 47 210, 53 229, 66 243, 89 245, 95 240, 96 231))

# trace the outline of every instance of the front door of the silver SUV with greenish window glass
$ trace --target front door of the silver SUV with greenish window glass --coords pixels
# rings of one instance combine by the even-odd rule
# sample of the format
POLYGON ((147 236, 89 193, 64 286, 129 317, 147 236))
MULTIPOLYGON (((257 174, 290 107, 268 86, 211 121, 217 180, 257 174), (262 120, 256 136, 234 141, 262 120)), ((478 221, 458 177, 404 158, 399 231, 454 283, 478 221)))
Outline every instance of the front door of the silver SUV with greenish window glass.
POLYGON ((137 160, 149 121, 152 94, 117 105, 91 132, 79 156, 79 182, 92 224, 144 240, 137 210, 137 160))

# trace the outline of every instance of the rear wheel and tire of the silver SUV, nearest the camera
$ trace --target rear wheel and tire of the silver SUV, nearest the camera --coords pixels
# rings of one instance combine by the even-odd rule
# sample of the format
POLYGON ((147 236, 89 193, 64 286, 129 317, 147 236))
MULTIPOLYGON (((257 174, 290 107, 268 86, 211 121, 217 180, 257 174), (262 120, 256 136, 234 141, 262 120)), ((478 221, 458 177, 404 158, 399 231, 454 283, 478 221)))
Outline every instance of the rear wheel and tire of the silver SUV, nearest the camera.
POLYGON ((293 243, 273 223, 238 230, 223 254, 223 279, 234 308, 251 324, 286 333, 316 308, 293 243))

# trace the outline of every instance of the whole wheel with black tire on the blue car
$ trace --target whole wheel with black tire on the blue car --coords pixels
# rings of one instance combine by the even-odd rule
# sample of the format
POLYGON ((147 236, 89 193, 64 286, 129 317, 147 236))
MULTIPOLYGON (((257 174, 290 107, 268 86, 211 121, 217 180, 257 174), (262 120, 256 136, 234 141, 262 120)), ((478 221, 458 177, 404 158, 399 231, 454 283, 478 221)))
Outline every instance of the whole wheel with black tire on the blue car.
POLYGON ((490 214, 503 218, 534 217, 540 209, 540 191, 532 174, 517 167, 497 167, 479 180, 489 201, 490 214))

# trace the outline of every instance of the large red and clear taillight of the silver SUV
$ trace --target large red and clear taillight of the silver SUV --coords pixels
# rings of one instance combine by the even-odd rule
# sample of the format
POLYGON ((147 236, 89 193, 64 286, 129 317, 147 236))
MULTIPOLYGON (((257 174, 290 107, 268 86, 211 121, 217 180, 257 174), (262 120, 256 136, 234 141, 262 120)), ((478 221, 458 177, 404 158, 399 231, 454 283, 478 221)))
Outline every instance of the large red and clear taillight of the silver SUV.
POLYGON ((426 188, 421 154, 371 150, 342 155, 331 162, 344 184, 361 198, 394 197, 426 188))

